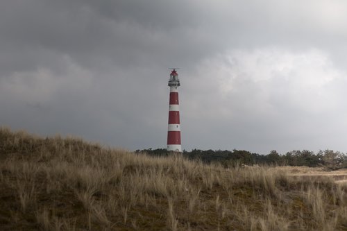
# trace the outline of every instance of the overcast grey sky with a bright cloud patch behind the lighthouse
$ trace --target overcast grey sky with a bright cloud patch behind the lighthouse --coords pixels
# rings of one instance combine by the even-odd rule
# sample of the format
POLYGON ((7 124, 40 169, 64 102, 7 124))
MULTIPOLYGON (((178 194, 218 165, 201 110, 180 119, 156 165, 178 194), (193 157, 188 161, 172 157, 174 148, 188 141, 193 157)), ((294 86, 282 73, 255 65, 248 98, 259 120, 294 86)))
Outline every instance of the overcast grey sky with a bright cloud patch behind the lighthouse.
POLYGON ((347 152, 347 1, 2 0, 0 126, 166 148, 347 152))

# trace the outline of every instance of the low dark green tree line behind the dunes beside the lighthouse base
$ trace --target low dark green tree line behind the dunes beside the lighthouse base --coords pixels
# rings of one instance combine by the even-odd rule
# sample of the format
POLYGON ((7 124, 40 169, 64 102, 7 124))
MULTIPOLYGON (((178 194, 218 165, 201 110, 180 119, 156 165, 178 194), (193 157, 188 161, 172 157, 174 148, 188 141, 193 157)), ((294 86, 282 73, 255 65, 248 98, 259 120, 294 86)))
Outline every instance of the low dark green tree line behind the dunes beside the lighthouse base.
MULTIPOLYGON (((143 149, 135 151, 137 154, 146 153, 147 155, 165 156, 171 152, 164 148, 143 149)), ((239 165, 288 165, 288 166, 326 166, 330 169, 347 168, 347 155, 339 151, 326 149, 314 153, 308 150, 293 150, 279 154, 273 150, 267 155, 251 153, 245 150, 234 149, 232 151, 222 150, 200 150, 183 151, 183 156, 190 160, 201 160, 204 163, 219 162, 223 166, 239 165)))

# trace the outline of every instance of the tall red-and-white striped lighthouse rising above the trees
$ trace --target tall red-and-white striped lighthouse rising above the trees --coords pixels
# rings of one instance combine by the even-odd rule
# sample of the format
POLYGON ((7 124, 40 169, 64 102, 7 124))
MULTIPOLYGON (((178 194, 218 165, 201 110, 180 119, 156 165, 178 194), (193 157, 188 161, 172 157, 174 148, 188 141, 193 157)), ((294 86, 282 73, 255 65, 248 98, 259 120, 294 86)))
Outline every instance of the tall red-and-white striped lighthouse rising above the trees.
POLYGON ((178 104, 178 86, 180 80, 175 69, 172 69, 169 79, 169 126, 167 129, 167 151, 182 152, 180 145, 180 108, 178 104))

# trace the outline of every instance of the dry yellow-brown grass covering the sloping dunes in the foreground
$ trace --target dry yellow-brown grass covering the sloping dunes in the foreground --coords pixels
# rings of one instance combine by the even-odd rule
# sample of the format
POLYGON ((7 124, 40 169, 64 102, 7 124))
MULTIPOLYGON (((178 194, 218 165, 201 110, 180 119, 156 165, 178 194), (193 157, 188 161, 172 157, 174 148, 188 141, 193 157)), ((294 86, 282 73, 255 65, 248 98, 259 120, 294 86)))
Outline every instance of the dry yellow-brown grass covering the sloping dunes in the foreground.
POLYGON ((347 230, 346 171, 226 169, 0 129, 0 230, 347 230))

